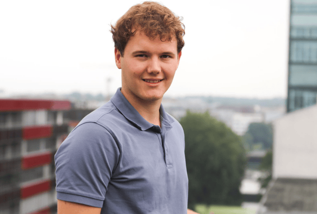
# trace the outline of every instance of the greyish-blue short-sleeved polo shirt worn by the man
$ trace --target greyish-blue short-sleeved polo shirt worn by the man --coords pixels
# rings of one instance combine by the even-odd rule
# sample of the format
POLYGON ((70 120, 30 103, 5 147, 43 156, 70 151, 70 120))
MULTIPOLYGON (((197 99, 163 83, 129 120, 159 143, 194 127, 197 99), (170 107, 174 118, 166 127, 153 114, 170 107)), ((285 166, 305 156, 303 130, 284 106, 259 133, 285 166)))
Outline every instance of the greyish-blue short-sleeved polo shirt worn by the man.
POLYGON ((118 89, 87 115, 55 155, 57 198, 100 207, 101 214, 186 214, 184 132, 159 111, 161 127, 118 89))

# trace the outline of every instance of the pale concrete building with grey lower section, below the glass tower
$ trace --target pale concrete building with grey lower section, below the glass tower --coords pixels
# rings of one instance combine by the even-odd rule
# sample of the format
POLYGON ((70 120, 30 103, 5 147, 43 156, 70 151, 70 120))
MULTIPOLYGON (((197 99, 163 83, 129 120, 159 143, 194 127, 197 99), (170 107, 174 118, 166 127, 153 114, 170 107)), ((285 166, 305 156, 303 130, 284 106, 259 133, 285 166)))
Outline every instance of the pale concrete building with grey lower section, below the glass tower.
POLYGON ((274 122, 272 177, 263 214, 317 214, 317 106, 274 122))

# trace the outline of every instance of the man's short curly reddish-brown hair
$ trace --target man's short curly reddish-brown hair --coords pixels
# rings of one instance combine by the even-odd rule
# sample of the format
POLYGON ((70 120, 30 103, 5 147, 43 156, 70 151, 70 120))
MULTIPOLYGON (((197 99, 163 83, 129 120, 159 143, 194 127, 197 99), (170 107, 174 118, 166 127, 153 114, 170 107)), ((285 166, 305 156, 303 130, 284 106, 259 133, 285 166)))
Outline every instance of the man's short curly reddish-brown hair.
POLYGON ((185 44, 185 26, 181 20, 181 17, 176 16, 167 7, 157 2, 145 1, 132 6, 119 18, 116 25, 111 25, 110 32, 115 47, 122 56, 130 37, 134 36, 137 30, 153 39, 159 36, 161 41, 171 41, 175 36, 179 53, 185 44))

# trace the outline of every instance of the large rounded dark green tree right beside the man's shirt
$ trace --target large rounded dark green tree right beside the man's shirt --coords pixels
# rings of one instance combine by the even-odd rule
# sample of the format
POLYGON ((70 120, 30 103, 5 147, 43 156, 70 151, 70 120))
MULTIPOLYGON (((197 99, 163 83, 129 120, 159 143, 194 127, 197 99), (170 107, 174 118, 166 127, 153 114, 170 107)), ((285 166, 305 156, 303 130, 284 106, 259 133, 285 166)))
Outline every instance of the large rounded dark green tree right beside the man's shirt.
POLYGON ((187 111, 180 124, 185 133, 189 208, 198 203, 240 204, 246 163, 240 138, 207 112, 187 111))

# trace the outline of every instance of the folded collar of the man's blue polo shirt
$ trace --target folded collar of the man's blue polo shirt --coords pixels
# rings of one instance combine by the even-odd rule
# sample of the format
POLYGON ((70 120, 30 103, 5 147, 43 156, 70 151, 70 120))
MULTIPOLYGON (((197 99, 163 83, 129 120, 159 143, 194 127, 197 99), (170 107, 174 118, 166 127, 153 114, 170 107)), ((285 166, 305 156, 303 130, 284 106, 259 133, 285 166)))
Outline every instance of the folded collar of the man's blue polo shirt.
MULTIPOLYGON (((133 125, 141 129, 142 131, 155 126, 149 122, 147 122, 139 112, 129 103, 129 101, 123 96, 121 93, 121 88, 117 89, 115 95, 111 98, 111 102, 118 108, 121 114, 128 119, 133 125)), ((163 106, 159 107, 159 114, 161 125, 171 126, 171 124, 175 121, 173 117, 168 115, 163 106)))

